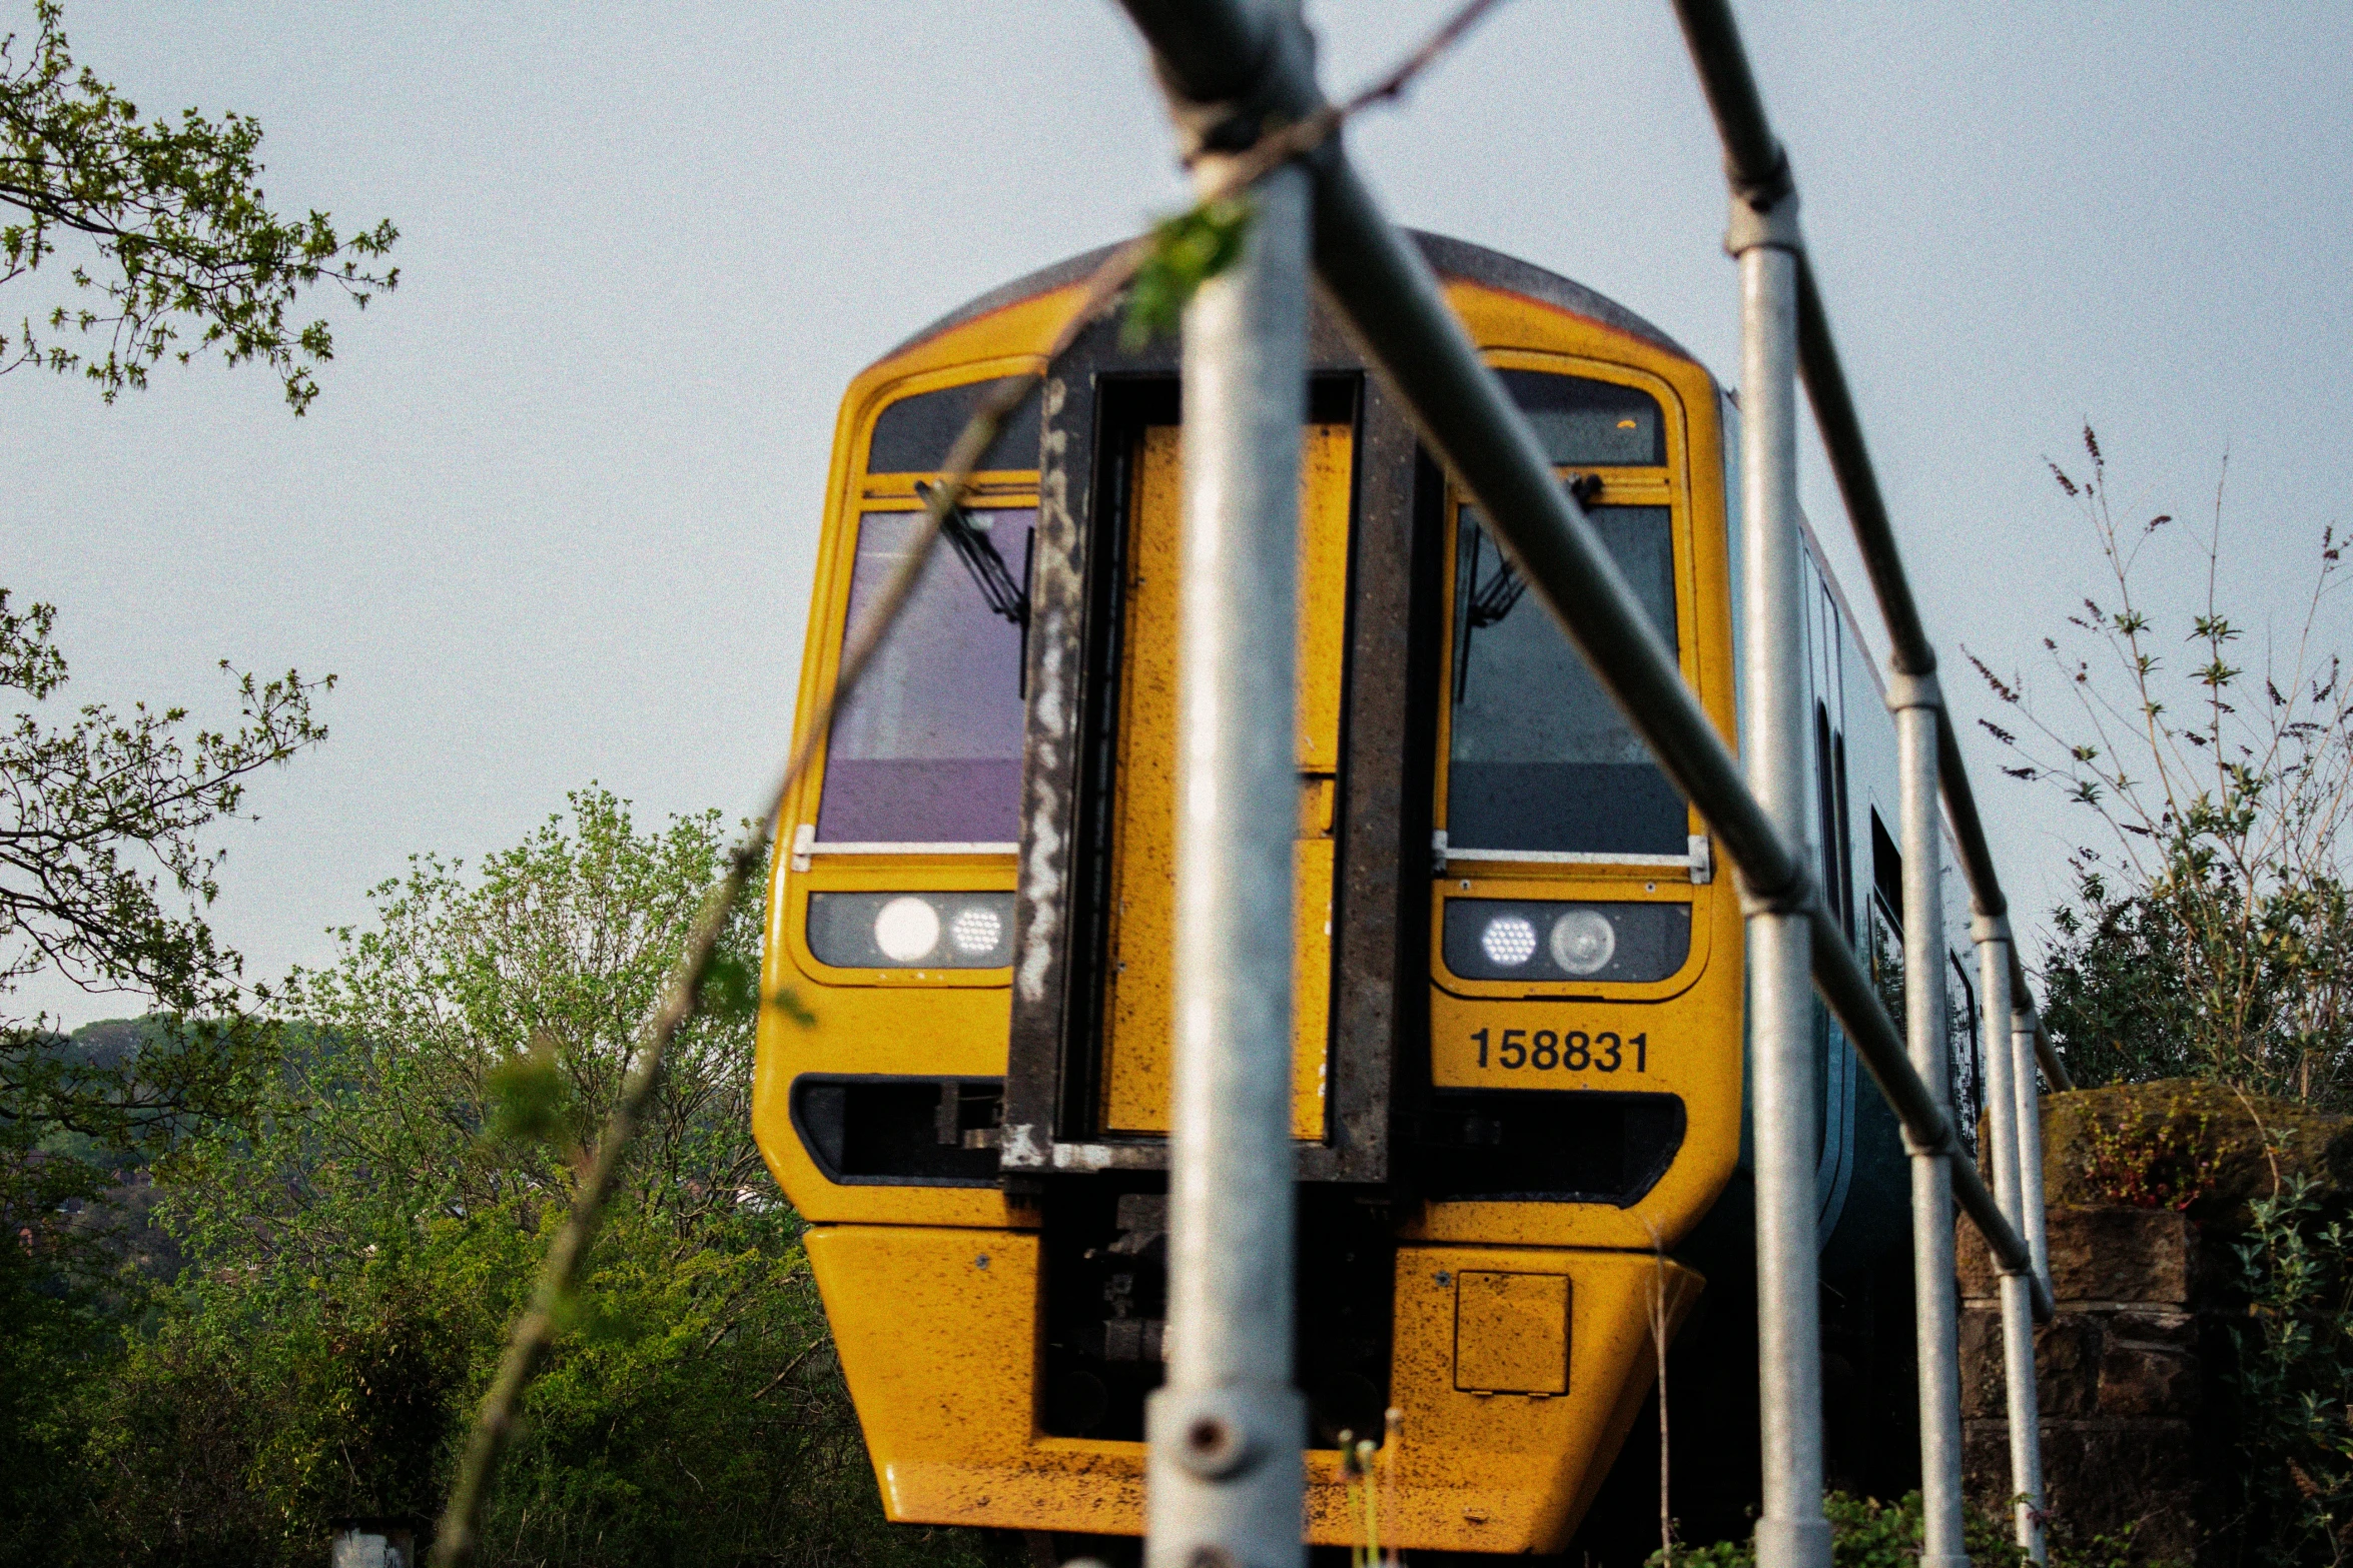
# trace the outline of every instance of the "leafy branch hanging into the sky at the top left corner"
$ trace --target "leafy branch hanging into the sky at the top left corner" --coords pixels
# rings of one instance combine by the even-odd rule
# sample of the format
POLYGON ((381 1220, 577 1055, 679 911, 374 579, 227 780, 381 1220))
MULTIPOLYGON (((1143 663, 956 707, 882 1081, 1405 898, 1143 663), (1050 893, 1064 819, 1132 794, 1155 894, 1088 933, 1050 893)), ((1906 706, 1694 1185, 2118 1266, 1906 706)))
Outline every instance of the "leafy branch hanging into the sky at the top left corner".
POLYGON ((384 268, 391 221, 339 233, 325 212, 278 216, 256 183, 261 125, 139 108, 78 66, 59 0, 35 0, 35 33, 0 38, 0 284, 54 277, 59 240, 82 259, 73 294, 0 334, 0 374, 24 364, 80 371, 106 402, 144 388, 167 355, 219 348, 228 364, 268 364, 301 414, 315 367, 334 357, 325 320, 296 322, 306 289, 327 284, 365 308, 400 282, 384 268), (38 324, 35 324, 38 322, 38 324), (193 336, 184 336, 193 334, 193 336))

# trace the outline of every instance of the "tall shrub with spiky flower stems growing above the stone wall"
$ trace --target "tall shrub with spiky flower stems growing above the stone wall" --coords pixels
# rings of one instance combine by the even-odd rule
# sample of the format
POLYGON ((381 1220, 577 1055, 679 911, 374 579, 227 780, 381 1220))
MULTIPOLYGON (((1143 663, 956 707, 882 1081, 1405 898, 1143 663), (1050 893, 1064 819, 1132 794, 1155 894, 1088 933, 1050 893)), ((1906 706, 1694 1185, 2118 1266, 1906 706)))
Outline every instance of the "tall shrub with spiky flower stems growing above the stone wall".
POLYGON ((1981 661, 2026 736, 1986 724, 2017 778, 2082 806, 2106 844, 2075 851, 2057 912, 2047 1020, 2085 1081, 2202 1074, 2261 1093, 2353 1103, 2353 684, 2322 646, 2341 545, 2322 529, 2301 628, 2266 637, 2221 607, 2224 491, 2202 541, 2205 595, 2181 616, 2177 663, 2144 607, 2144 552, 2172 515, 2118 522, 2099 437, 2087 475, 2052 463, 2082 508, 2111 585, 2045 639, 2071 712, 2026 701, 1981 661))

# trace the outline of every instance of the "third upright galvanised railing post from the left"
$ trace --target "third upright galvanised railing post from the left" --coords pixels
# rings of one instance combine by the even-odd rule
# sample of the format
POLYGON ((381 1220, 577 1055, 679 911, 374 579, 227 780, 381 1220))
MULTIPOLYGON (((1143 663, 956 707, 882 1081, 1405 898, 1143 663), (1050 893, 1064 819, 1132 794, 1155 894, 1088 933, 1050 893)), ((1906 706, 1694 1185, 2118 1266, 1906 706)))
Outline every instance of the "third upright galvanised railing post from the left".
MULTIPOLYGON (((1948 1117, 1944 1011, 1944 835, 1937 820, 1934 675, 1899 675, 1887 705, 1897 715, 1904 778, 1904 1034, 1913 1072, 1948 1117)), ((1967 1568, 1960 1486, 1960 1300, 1953 1272, 1953 1168, 1944 1150, 1911 1133, 1913 1321, 1920 1349, 1920 1563, 1967 1568)))

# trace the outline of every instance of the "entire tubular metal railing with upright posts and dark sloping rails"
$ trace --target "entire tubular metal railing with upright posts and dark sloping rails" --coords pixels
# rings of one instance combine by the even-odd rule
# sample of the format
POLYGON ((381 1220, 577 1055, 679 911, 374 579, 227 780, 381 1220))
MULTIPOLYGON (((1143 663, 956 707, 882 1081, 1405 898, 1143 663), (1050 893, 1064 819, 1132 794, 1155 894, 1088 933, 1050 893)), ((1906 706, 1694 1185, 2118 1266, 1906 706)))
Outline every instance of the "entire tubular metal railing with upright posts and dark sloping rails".
MULTIPOLYGON (((1271 122, 1301 122, 1325 110, 1297 0, 1122 2, 1153 45, 1188 153, 1214 158, 1247 146, 1271 122)), ((1899 733, 1911 738, 1904 748, 1906 931, 1922 938, 1918 943, 1922 954, 1934 952, 1929 938, 1941 924, 1934 896, 1941 860, 1934 835, 1939 792, 1969 884, 1977 914, 1972 936, 1979 940, 1986 976, 1988 1117, 1995 1128, 1993 1166, 2000 1197, 1986 1190, 1944 1105, 1939 964, 1922 957, 1908 964, 1913 983, 1906 997, 1911 1025, 1906 1039, 1807 872, 1805 820, 1793 811, 1791 790, 1793 769, 1800 766, 1795 748, 1755 743, 1744 776, 1685 686, 1673 654, 1649 628, 1584 508, 1553 475, 1520 411, 1445 306, 1428 266, 1379 212, 1337 136, 1299 160, 1313 179, 1308 214, 1313 266, 1367 362, 1412 411, 1424 444, 1480 505, 1522 578, 1584 651, 1739 872, 1751 964, 1765 985, 1762 997, 1753 992, 1751 1027, 1758 1131, 1758 1335, 1765 1392, 1765 1514, 1758 1521, 1758 1561, 1767 1568, 1795 1563, 1826 1568, 1831 1559, 1831 1535, 1821 1514, 1812 1154, 1800 1150, 1802 1140, 1795 1138, 1809 1121, 1809 1093, 1819 1093, 1809 1006, 1802 994, 1807 973, 1904 1124, 1913 1152, 1915 1246, 1920 1246, 1915 1267, 1922 1269, 1922 1279, 1951 1281, 1948 1201, 1953 1199, 1984 1234, 2002 1269, 2014 1479, 2031 1481, 2019 1488, 2028 1493, 2019 1509, 2019 1533, 2021 1542, 2040 1552, 2033 1535, 2040 1462, 2028 1319, 2047 1316, 2052 1298, 2042 1274, 2040 1215, 2026 1211, 2026 1161, 2033 1161, 2040 1175, 2028 1046, 2040 1048, 2054 1084, 2066 1086, 2066 1074, 2049 1053, 2031 1006, 2024 1006, 2024 971, 2009 943, 1984 823, 1962 771, 1958 736, 1937 696, 1934 651, 1906 585, 1819 289, 1805 263, 1788 160, 1772 136, 1729 7, 1722 0, 1678 0, 1678 14, 1725 139, 1734 195, 1727 247, 1741 261, 1751 701, 1772 705, 1772 684, 1793 679, 1800 658, 1793 642, 1795 616, 1786 614, 1791 607, 1784 604, 1795 590, 1795 571, 1777 574, 1769 564, 1777 557, 1795 559, 1795 378, 1802 376, 1894 644, 1892 705, 1899 733), (2009 1009, 2009 994, 2021 999, 2017 1013, 2009 1009), (1941 1232, 1941 1251, 1922 1241, 1925 1232, 1941 1232)), ((1287 190, 1268 190, 1271 212, 1282 223, 1294 221, 1285 216, 1292 212, 1287 190)), ((1304 263, 1306 254, 1289 244, 1285 233, 1252 237, 1233 289, 1257 292, 1261 299, 1299 296, 1304 263)), ((1247 386, 1271 386, 1271 378, 1285 374, 1289 360, 1254 339, 1245 317, 1247 313, 1235 315, 1231 292, 1202 289, 1186 317, 1188 386, 1224 386, 1247 402, 1247 386)), ((1271 324, 1261 329, 1273 331, 1271 324)), ((1297 378, 1294 374, 1294 386, 1297 378)), ((1202 461, 1228 496, 1205 501, 1200 515, 1188 496, 1188 527, 1212 517, 1219 527, 1233 527, 1242 512, 1254 510, 1264 527, 1278 529, 1280 548, 1287 550, 1297 512, 1275 503, 1268 487, 1275 480, 1297 482, 1292 477, 1297 433, 1278 437, 1249 418, 1228 416, 1219 430, 1205 435, 1207 447, 1188 437, 1188 465, 1195 463, 1195 451, 1205 451, 1202 461), (1235 498, 1235 484, 1259 501, 1235 498)), ((1195 484, 1188 470, 1188 491, 1195 484)), ((1268 541, 1268 548, 1275 543, 1268 541)), ((1278 609, 1287 604, 1285 595, 1261 592, 1252 599, 1245 592, 1242 578, 1254 569, 1238 550, 1188 555, 1188 578, 1200 578, 1186 585, 1188 639, 1195 635, 1193 616, 1212 614, 1195 604, 1228 607, 1219 614, 1242 614, 1238 607, 1254 604, 1257 609, 1247 614, 1264 618, 1287 614, 1278 609)), ((1257 642, 1266 646, 1285 642, 1273 625, 1257 630, 1257 642)), ((1209 635, 1207 621, 1200 623, 1200 635, 1209 635)), ((1238 804, 1254 799, 1264 757, 1287 757, 1292 745, 1287 693, 1285 701, 1259 703, 1252 712, 1219 710, 1214 715, 1219 733, 1195 743, 1191 724, 1202 715, 1198 703, 1212 696, 1214 677, 1186 658, 1186 679, 1200 682, 1202 696, 1184 698, 1188 738, 1179 799, 1193 802, 1184 832, 1247 832, 1235 827, 1238 804), (1195 816, 1200 820, 1193 820, 1195 816)), ((1268 813, 1275 813, 1275 806, 1268 806, 1268 813)), ((1233 839, 1226 839, 1221 849, 1231 844, 1233 839)), ((1214 860, 1217 856, 1207 853, 1188 856, 1179 844, 1179 954, 1224 952, 1221 933, 1247 917, 1254 893, 1214 860)), ((1289 889, 1287 877, 1275 872, 1268 872, 1268 882, 1285 893, 1289 889)), ((1275 924, 1287 926, 1287 922, 1275 924)), ((1231 997, 1219 1001, 1214 990, 1217 983, 1202 966, 1181 973, 1179 1018, 1186 1016, 1186 1006, 1198 1004, 1207 1020, 1219 1006, 1231 1004, 1231 997), (1200 994, 1188 1001, 1186 990, 1195 985, 1200 994)), ((1289 1180, 1271 1180, 1261 1171, 1266 1161, 1235 1159, 1233 1150, 1224 1147, 1228 1135, 1259 1145, 1266 1133, 1261 1121, 1280 1126, 1259 1084, 1266 1077, 1259 1067, 1266 1063, 1249 1060, 1252 1056, 1287 1060, 1287 983, 1275 985, 1273 999, 1273 1006, 1247 1020, 1233 1018, 1238 1027, 1228 1032, 1179 1025, 1169 1178, 1176 1253, 1169 1286, 1172 1314, 1198 1309, 1202 1321, 1172 1335, 1184 1347, 1186 1363, 1172 1363, 1169 1394, 1153 1413, 1155 1495, 1148 1505, 1146 1556, 1153 1568, 1301 1561, 1297 1413, 1273 1396, 1289 1378, 1289 1333, 1278 1328, 1273 1316, 1287 1324, 1289 1300, 1285 1295, 1273 1305, 1249 1305, 1242 1300, 1247 1293, 1226 1291, 1226 1284, 1233 1284, 1231 1267, 1214 1258, 1205 1260, 1202 1248, 1186 1246, 1188 1234, 1207 1237, 1212 1213, 1219 1215, 1219 1232, 1287 1234, 1289 1180), (1282 1220, 1271 1218, 1275 1208, 1285 1211, 1282 1220), (1207 1314, 1235 1316, 1212 1326, 1207 1314), (1282 1349, 1268 1352, 1254 1345, 1249 1340, 1254 1333, 1275 1333, 1282 1349), (1285 1453, 1292 1458, 1278 1458, 1285 1453)), ((1280 1265, 1268 1267, 1287 1272, 1280 1265)), ((1948 1288, 1922 1288, 1915 1295, 1922 1300, 1922 1472, 1932 1514, 1925 1544, 1929 1561, 1960 1563, 1965 1559, 1958 1535, 1960 1406, 1953 1300, 1948 1288)))

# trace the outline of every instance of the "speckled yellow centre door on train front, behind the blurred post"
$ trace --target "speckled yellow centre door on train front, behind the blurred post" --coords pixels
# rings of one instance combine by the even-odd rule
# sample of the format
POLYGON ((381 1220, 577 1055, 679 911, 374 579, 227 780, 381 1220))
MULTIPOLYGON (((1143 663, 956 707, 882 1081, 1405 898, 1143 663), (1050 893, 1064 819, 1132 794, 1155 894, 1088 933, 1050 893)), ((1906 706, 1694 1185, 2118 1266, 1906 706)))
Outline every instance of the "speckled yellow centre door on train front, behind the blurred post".
MULTIPOLYGON (((1299 771, 1292 947, 1292 1138, 1325 1131, 1332 1013, 1332 809, 1348 628, 1348 425, 1308 425, 1299 501, 1299 771)), ((1118 813, 1111 839, 1111 985, 1104 1018, 1104 1126, 1169 1126, 1169 954, 1176 896, 1176 529, 1181 430, 1144 433, 1127 543, 1120 649, 1118 813)))

